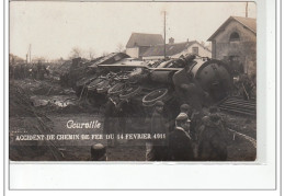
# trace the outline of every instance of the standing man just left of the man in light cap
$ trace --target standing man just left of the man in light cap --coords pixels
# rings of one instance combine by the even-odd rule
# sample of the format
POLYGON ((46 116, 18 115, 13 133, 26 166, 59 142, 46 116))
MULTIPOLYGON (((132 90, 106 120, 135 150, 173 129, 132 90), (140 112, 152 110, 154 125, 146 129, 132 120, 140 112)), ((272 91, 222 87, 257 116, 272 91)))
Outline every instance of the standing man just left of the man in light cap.
MULTIPOLYGON (((157 101, 155 104, 155 111, 150 120, 151 136, 155 134, 167 134, 166 119, 163 117, 162 101, 157 101)), ((146 143, 146 160, 147 161, 163 161, 167 159, 167 140, 166 139, 152 139, 146 143)))

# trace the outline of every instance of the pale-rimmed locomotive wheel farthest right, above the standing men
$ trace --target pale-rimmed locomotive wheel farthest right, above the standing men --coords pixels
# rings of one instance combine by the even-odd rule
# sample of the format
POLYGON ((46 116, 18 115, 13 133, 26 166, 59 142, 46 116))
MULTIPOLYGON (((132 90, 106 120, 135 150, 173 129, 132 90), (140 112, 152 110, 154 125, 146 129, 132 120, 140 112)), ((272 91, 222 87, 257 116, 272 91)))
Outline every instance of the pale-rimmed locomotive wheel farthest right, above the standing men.
POLYGON ((142 97, 144 106, 153 106, 157 101, 162 100, 168 94, 168 89, 158 89, 151 91, 142 97))

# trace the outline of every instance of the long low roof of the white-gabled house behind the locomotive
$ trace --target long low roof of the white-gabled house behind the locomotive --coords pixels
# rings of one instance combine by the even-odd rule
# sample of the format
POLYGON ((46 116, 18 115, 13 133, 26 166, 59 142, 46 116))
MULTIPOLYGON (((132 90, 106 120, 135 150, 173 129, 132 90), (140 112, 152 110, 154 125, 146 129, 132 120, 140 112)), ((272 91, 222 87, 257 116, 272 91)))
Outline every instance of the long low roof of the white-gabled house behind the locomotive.
MULTIPOLYGON (((175 43, 175 44, 167 44, 166 46, 166 55, 173 56, 176 54, 182 53, 184 49, 187 49, 193 44, 200 44, 197 41, 184 42, 184 43, 175 43)), ((150 57, 150 56, 163 56, 164 55, 164 45, 156 45, 151 46, 146 50, 142 57, 150 57)))

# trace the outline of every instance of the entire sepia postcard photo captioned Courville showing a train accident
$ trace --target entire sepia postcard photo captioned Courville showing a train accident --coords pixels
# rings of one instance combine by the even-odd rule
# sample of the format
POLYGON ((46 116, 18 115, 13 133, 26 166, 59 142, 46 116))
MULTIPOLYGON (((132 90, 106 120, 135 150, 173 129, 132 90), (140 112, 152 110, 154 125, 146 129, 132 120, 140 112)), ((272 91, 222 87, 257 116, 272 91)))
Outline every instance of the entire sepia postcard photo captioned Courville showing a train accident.
POLYGON ((10 1, 9 14, 10 161, 255 161, 255 2, 10 1))

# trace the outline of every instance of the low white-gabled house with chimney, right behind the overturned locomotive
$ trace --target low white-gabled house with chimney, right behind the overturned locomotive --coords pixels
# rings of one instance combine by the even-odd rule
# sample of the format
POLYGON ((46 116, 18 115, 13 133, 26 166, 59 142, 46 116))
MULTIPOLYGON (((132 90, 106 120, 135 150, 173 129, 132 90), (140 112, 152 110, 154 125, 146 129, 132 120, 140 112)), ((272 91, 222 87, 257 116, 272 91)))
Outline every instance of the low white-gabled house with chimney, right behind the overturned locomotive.
MULTIPOLYGON (((212 51, 200 44, 197 41, 174 43, 174 38, 169 39, 169 44, 166 45, 166 56, 169 58, 179 58, 187 54, 195 54, 202 57, 212 57, 212 51)), ((142 55, 144 60, 157 60, 164 58, 164 44, 151 46, 142 55)))

